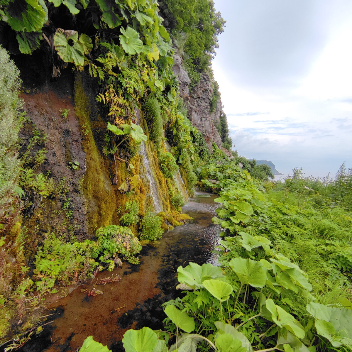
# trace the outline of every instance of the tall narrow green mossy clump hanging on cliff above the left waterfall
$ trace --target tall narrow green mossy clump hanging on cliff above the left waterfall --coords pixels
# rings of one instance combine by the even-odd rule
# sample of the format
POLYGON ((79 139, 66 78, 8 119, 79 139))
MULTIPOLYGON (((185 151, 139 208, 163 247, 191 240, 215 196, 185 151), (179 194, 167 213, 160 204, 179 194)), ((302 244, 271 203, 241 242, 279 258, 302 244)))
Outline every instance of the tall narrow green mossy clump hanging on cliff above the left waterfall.
POLYGON ((145 101, 143 108, 144 118, 150 127, 149 138, 159 147, 163 138, 163 119, 159 102, 155 98, 149 97, 145 101))

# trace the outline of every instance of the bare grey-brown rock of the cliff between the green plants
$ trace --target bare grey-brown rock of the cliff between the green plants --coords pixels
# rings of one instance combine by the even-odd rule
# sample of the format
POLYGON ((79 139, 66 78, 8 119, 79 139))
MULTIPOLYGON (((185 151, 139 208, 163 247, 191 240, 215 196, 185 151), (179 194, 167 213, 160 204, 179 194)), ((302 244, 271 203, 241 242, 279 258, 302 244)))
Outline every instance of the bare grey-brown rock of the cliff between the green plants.
POLYGON ((174 61, 173 71, 178 78, 180 96, 182 96, 183 101, 187 105, 189 120, 203 134, 209 149, 212 148, 213 142, 220 148, 221 138, 214 124, 219 121, 222 103, 219 99, 214 112, 210 114, 210 100, 213 88, 209 75, 203 73, 194 92, 189 93, 190 79, 187 72, 182 68, 182 59, 175 54, 174 61))

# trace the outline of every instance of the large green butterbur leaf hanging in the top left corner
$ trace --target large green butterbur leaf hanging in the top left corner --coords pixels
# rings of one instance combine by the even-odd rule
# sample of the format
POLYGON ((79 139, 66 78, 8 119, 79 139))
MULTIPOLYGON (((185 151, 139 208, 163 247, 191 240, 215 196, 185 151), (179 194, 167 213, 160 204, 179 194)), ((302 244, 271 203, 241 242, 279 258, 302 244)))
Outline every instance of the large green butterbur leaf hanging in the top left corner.
POLYGON ((12 0, 5 14, 8 24, 17 32, 38 32, 48 20, 48 8, 43 0, 12 0))

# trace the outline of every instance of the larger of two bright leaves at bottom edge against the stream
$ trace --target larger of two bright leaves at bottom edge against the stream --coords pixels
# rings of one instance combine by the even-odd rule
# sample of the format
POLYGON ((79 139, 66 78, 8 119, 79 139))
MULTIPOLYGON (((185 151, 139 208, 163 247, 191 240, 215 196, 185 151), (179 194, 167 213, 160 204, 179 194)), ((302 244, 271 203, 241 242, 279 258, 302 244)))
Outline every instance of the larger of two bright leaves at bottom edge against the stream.
POLYGON ((157 343, 156 333, 146 326, 140 330, 127 330, 122 338, 126 352, 152 352, 157 343))

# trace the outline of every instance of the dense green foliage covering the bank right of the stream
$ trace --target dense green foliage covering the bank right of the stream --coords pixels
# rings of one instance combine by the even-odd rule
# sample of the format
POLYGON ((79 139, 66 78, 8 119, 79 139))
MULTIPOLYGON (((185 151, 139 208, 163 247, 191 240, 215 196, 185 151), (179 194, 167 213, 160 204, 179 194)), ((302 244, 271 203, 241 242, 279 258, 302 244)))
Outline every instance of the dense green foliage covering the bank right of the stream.
POLYGON ((174 335, 170 350, 350 351, 351 172, 341 165, 322 182, 294 169, 264 188, 234 161, 201 176, 220 196, 221 268, 178 268, 188 291, 165 303, 156 344, 174 335))

